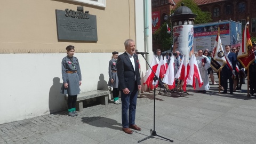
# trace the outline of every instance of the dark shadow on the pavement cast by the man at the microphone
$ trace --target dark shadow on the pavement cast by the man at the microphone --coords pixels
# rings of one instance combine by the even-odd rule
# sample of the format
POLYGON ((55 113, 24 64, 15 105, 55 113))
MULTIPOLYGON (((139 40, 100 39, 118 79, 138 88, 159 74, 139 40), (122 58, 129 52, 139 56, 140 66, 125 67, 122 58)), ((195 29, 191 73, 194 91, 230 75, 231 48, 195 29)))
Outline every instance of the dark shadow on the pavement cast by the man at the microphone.
POLYGON ((115 119, 110 119, 107 117, 101 117, 101 116, 82 117, 82 122, 92 126, 96 126, 96 127, 108 127, 109 129, 122 131, 121 123, 118 123, 115 119), (98 119, 102 121, 102 123, 99 123, 99 121, 96 121, 98 119))

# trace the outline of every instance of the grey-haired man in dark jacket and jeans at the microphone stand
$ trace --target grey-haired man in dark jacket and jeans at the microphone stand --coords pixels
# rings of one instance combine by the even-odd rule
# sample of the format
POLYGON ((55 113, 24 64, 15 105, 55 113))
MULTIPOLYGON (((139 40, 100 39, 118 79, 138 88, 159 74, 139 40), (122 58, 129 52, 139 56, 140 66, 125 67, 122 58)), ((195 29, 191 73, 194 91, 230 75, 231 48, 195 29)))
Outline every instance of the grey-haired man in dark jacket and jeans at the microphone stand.
POLYGON ((132 134, 130 129, 141 130, 135 125, 137 95, 138 90, 141 89, 141 82, 138 55, 134 54, 135 43, 132 39, 127 39, 124 46, 125 52, 118 56, 116 68, 119 79, 118 89, 121 91, 123 131, 132 134))

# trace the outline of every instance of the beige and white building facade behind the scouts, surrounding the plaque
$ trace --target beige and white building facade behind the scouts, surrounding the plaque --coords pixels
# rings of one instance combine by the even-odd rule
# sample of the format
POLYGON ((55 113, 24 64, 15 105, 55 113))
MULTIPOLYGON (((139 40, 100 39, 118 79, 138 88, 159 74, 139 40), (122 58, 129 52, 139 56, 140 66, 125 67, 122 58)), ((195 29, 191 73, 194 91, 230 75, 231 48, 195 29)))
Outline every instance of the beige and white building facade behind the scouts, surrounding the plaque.
MULTIPOLYGON (((122 54, 125 39, 134 39, 137 49, 145 51, 145 2, 0 1, 1 12, 5 13, 0 15, 0 112, 4 114, 0 124, 67 109, 65 95, 60 94, 60 89, 61 60, 67 55, 65 48, 68 45, 75 46, 74 56, 81 67, 81 92, 101 89, 100 86, 109 79, 111 52, 122 54), (58 39, 55 11, 76 11, 78 6, 96 15, 97 41, 58 39)), ((149 6, 151 10, 151 4, 149 6)), ((141 56, 139 58, 145 74, 146 62, 141 56)))

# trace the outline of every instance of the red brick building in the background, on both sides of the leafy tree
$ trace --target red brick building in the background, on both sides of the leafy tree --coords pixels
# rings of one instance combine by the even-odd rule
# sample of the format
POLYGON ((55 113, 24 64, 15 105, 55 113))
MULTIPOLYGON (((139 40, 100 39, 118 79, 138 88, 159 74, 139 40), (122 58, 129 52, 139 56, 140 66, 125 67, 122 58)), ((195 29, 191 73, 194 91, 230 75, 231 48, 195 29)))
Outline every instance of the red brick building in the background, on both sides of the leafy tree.
MULTIPOLYGON (((170 15, 175 4, 180 0, 151 0, 152 12, 160 11, 161 25, 164 15, 170 15)), ((249 16, 249 28, 251 36, 256 37, 256 1, 255 0, 194 0, 202 11, 211 12, 212 22, 222 20, 233 20, 246 23, 249 16)), ((154 45, 153 45, 154 46, 154 45)))

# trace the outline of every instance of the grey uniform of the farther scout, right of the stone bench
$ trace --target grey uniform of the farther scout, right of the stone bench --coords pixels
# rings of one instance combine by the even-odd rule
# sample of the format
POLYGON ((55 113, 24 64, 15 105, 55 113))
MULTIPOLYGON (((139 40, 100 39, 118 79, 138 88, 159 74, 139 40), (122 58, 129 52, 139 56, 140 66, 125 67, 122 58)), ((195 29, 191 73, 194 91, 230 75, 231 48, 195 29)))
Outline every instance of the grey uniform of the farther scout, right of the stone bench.
POLYGON ((117 77, 117 72, 116 72, 116 60, 112 58, 109 61, 108 65, 108 75, 109 75, 109 81, 108 81, 108 86, 111 86, 113 88, 118 88, 118 77, 117 77), (110 79, 114 79, 114 83, 111 83, 110 79))

